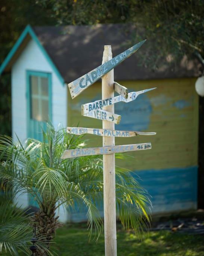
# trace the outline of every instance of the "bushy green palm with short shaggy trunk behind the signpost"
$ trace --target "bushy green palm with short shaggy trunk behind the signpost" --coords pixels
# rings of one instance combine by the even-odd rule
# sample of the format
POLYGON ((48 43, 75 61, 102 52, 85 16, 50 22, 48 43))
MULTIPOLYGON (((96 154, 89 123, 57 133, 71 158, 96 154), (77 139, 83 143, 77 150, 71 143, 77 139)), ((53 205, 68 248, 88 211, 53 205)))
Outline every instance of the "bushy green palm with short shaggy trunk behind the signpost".
MULTIPOLYGON (((55 130, 47 124, 43 141, 28 139, 25 145, 13 143, 12 138, 0 138, 0 180, 13 187, 16 193, 30 193, 39 205, 33 218, 37 237, 44 235, 47 249, 59 226, 56 210, 60 205, 66 209, 87 208, 87 225, 95 230, 97 238, 103 230, 103 221, 96 205, 102 205, 103 171, 101 156, 61 159, 65 149, 82 148, 82 136, 69 135, 64 129, 55 130)), ((8 186, 9 187, 9 186, 8 186)), ((117 216, 124 227, 132 227, 140 234, 149 221, 151 203, 130 172, 116 170, 117 216)), ((37 252, 47 255, 47 252, 37 252)))

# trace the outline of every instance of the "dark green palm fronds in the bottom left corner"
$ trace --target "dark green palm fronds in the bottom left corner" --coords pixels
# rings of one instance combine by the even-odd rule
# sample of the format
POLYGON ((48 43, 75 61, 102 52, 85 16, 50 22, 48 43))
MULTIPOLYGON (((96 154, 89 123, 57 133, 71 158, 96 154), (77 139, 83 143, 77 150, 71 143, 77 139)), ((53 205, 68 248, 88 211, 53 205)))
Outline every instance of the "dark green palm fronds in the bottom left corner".
MULTIPOLYGON (((8 252, 9 255, 31 255, 30 246, 33 239, 33 229, 30 225, 30 215, 12 205, 10 200, 0 203, 0 253, 8 252)), ((35 247, 39 251, 48 252, 46 246, 38 238, 35 247)))

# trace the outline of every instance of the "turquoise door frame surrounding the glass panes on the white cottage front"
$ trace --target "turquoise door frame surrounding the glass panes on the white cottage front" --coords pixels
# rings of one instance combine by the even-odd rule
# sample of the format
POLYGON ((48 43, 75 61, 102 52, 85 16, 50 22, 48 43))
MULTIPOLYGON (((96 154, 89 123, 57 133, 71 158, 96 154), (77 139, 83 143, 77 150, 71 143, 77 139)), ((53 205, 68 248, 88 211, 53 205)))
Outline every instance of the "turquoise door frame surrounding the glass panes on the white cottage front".
POLYGON ((32 70, 26 71, 26 95, 27 95, 27 136, 28 138, 35 138, 38 140, 42 140, 42 133, 41 128, 43 130, 46 129, 46 122, 44 121, 37 121, 31 118, 31 91, 30 91, 30 79, 31 76, 36 76, 37 78, 47 78, 48 79, 48 115, 49 120, 52 121, 52 75, 51 73, 44 73, 44 72, 36 72, 32 70))

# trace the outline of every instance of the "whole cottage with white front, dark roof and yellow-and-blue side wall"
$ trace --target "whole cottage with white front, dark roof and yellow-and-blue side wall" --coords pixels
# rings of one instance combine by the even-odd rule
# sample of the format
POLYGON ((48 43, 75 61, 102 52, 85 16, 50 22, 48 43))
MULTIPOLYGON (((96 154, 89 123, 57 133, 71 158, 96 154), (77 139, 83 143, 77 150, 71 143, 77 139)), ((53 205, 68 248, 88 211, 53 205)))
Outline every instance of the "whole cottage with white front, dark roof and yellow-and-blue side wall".
MULTIPOLYGON (((99 120, 81 117, 80 113, 81 104, 100 99, 100 83, 92 85, 74 100, 65 84, 101 64, 103 45, 112 45, 114 56, 126 49, 127 45, 124 47, 123 43, 131 37, 131 31, 129 27, 122 30, 123 27, 109 24, 33 28, 28 25, 25 28, 0 66, 0 74, 11 72, 12 77, 13 138, 16 133, 21 140, 28 137, 41 139, 40 126, 47 120, 55 127, 59 123, 64 127, 77 125, 79 118, 81 126, 101 126, 99 120)), ((145 53, 146 49, 143 47, 141 51, 145 53)), ((185 56, 177 66, 173 64, 171 67, 166 66, 164 57, 164 64, 157 72, 136 63, 137 54, 118 65, 114 70, 115 81, 130 91, 158 89, 138 97, 137 104, 129 103, 125 108, 118 105, 118 109, 115 106, 122 116, 117 128, 156 131, 157 136, 151 138, 151 152, 133 153, 139 155, 140 160, 136 164, 130 161, 126 167, 139 171, 142 185, 152 196, 155 213, 195 209, 198 97, 194 84, 201 65, 185 56), (127 107, 132 116, 128 120, 127 107), (133 123, 132 120, 137 121, 133 123), (169 133, 171 136, 167 136, 169 133)), ((141 137, 136 140, 148 142, 141 137)), ((95 139, 98 141, 100 138, 95 139)), ((19 196, 18 203, 23 207, 35 205, 29 195, 19 196)), ((68 215, 63 208, 60 211, 62 221, 86 219, 84 213, 68 215)))

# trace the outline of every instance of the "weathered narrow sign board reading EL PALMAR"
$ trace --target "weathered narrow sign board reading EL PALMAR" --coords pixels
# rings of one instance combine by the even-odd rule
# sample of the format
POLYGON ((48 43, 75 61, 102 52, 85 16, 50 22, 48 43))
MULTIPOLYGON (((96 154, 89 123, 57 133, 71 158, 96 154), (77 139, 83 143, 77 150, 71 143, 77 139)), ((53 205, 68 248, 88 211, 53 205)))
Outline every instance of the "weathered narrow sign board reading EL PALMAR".
POLYGON ((93 135, 108 136, 108 137, 133 137, 137 135, 155 135, 156 134, 156 132, 120 131, 120 130, 84 128, 84 127, 67 127, 67 133, 76 134, 76 135, 89 133, 93 135))

